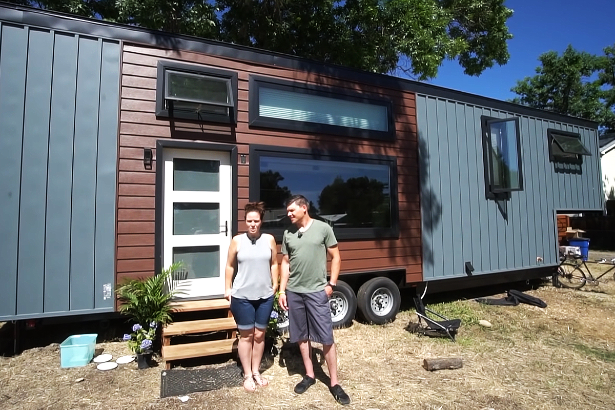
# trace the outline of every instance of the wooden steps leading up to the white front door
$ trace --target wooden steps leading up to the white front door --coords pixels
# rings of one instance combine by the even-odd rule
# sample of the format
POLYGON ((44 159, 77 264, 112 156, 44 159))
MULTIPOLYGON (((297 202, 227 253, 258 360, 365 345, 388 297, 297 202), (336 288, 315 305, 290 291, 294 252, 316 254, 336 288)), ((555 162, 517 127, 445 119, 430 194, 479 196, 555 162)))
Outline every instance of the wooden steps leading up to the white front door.
MULTIPOLYGON (((167 369, 170 361, 232 353, 237 349, 237 325, 226 299, 177 301, 172 304, 175 321, 162 329, 162 358, 167 369), (206 319, 182 320, 181 313, 207 312, 206 319), (208 341, 179 342, 181 336, 207 335, 208 341), (179 337, 175 344, 172 338, 179 337)), ((194 337, 194 339, 197 339, 194 337)), ((184 337, 184 340, 189 339, 184 337)))

